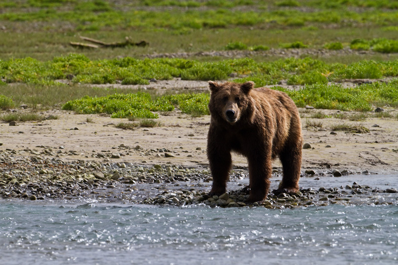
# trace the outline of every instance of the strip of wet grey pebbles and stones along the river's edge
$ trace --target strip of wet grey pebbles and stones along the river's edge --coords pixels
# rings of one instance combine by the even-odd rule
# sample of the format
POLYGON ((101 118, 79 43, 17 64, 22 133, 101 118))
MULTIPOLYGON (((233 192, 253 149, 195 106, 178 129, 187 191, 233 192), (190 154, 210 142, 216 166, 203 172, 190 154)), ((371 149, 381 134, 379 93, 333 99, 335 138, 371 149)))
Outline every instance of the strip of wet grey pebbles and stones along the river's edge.
MULTIPOLYGON (((301 188, 296 194, 270 193, 262 202, 246 203, 246 168, 234 168, 228 187, 220 196, 209 197, 212 178, 207 168, 179 165, 137 165, 130 163, 76 160, 64 162, 43 155, 15 156, 11 150, 0 152, 0 196, 9 200, 46 200, 51 202, 100 202, 206 207, 295 208, 307 206, 389 205, 395 204, 396 188, 378 189, 353 183, 346 186, 301 188)), ((347 174, 353 174, 347 172, 347 174)), ((317 175, 302 173, 302 178, 331 177, 332 171, 317 175)), ((275 168, 272 187, 281 179, 275 168)))

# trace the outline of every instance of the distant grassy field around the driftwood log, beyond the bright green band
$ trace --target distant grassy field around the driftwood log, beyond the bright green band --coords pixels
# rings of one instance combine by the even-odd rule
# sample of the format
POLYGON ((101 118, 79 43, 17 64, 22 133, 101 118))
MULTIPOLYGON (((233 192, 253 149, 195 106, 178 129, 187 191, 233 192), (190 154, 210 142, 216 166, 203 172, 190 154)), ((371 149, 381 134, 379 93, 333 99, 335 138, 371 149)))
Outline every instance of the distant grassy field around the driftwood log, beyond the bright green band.
POLYGON ((397 4, 384 0, 3 0, 0 7, 3 60, 51 60, 76 52, 92 60, 139 57, 223 50, 231 42, 270 48, 302 42, 315 49, 339 42, 350 47, 364 36, 366 41, 396 40, 398 31, 397 4), (131 36, 150 45, 79 50, 69 42, 81 41, 80 35, 105 42, 131 36))

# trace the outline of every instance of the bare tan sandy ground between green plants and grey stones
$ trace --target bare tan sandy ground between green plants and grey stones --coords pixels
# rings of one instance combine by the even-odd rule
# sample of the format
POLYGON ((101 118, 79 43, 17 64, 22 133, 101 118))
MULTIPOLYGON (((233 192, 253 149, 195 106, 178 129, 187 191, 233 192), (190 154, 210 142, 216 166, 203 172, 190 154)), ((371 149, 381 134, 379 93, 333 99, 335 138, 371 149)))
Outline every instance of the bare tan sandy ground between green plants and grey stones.
MULTIPOLYGON (((370 133, 337 131, 337 134, 330 134, 330 126, 333 124, 358 122, 324 118, 321 120, 321 129, 305 128, 305 116, 309 117, 311 113, 303 109, 300 111, 304 143, 311 145, 311 149, 303 149, 302 172, 306 169, 313 169, 316 173, 330 172, 334 169, 347 170, 350 173, 366 170, 370 173, 394 173, 398 170, 396 118, 367 118, 362 125, 369 128, 370 133), (375 124, 379 127, 372 127, 375 124)), ((330 115, 336 111, 323 112, 330 115)), ((203 168, 208 166, 206 137, 209 116, 193 118, 175 110, 170 115, 160 115, 160 127, 124 130, 116 128, 115 125, 128 122, 127 119, 77 115, 62 110, 49 110, 43 114, 58 115, 59 118, 40 122, 18 122, 17 126, 1 123, 0 151, 14 150, 15 156, 26 157, 48 155, 49 158, 57 157, 65 162, 89 160, 143 165, 173 164, 203 168), (88 117, 93 122, 87 123, 88 117), (140 148, 136 149, 137 146, 140 148), (46 153, 48 150, 51 153, 46 153), (165 152, 173 157, 165 157, 165 152), (112 154, 119 154, 120 158, 111 158, 112 154)), ((370 113, 369 116, 371 115, 370 113)), ((236 167, 247 167, 246 159, 237 155, 233 155, 233 164, 236 167)), ((281 164, 276 160, 274 166, 281 167, 281 164)))

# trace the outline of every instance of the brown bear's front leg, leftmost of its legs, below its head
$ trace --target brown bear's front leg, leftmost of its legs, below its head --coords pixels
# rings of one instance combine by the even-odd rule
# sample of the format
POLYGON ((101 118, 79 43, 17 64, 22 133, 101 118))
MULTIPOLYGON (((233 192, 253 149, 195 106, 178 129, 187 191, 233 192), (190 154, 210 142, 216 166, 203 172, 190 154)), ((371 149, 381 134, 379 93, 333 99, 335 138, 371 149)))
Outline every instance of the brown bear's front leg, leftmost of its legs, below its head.
POLYGON ((209 196, 221 195, 226 190, 226 182, 232 167, 231 150, 225 143, 225 137, 217 137, 216 131, 210 126, 207 137, 207 158, 210 165, 213 185, 209 196), (210 136, 211 134, 211 136, 210 136))

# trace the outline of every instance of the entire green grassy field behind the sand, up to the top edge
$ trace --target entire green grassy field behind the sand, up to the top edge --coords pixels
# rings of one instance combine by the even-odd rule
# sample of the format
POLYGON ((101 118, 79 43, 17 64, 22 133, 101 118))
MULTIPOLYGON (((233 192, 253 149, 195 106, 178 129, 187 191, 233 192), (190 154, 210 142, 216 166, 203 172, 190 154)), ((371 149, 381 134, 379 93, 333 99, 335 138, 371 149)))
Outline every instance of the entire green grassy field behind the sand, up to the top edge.
POLYGON ((78 113, 156 118, 152 111, 179 106, 191 115, 202 115, 207 114, 208 94, 187 94, 184 99, 150 96, 145 101, 136 91, 84 84, 145 85, 153 78, 176 77, 229 80, 232 74, 236 81, 252 80, 257 87, 281 82, 305 85, 299 91, 286 90, 298 106, 368 111, 398 105, 395 1, 3 0, 0 8, 3 109, 26 103, 33 108, 63 106, 78 113), (105 42, 130 36, 146 40, 149 46, 77 49, 69 45, 85 42, 79 36, 105 42), (281 59, 272 51, 292 48, 323 49, 326 55, 281 59), (342 49, 352 53, 339 55, 342 49), (195 55, 234 50, 253 53, 242 59, 195 55), (337 52, 328 56, 327 51, 337 52), (161 53, 192 55, 144 59, 161 53), (393 80, 356 88, 330 85, 344 79, 385 78, 393 80), (59 79, 70 79, 71 86, 59 79), (134 94, 123 95, 130 92, 134 94), (131 103, 136 97, 146 105, 126 108, 117 101, 131 103), (105 106, 106 102, 114 105, 105 106))

